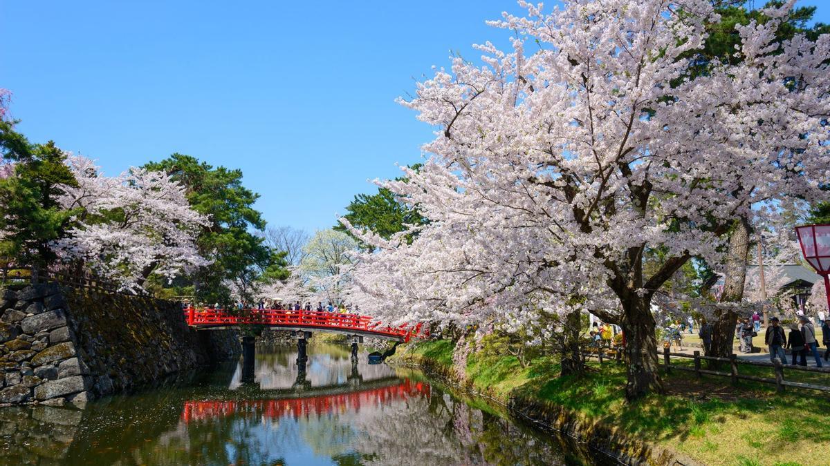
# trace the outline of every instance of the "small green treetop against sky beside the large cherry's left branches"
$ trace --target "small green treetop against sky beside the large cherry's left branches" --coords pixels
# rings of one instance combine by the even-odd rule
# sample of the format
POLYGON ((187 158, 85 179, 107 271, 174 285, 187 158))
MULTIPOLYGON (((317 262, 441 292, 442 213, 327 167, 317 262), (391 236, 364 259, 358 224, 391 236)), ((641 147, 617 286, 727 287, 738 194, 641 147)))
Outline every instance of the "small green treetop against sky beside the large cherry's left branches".
MULTIPOLYGON (((420 164, 411 166, 416 171, 419 167, 421 167, 420 164)), ((406 178, 398 177, 395 180, 406 181, 406 178)), ((386 239, 403 231, 405 225, 423 225, 427 222, 416 207, 409 206, 385 187, 379 187, 376 194, 358 194, 349 206, 346 206, 346 211, 348 213, 344 217, 353 226, 367 229, 386 239)), ((339 223, 334 226, 334 230, 343 231, 354 237, 339 223)), ((412 238, 409 240, 411 241, 412 238)), ((366 247, 362 243, 360 246, 366 247)))

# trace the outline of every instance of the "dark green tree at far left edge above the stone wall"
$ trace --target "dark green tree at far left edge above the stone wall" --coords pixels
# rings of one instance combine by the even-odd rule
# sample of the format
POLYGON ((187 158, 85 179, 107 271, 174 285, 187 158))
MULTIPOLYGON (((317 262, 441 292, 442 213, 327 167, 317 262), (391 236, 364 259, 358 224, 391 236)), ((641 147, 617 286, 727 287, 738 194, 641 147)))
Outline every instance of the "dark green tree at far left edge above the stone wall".
POLYGON ((58 199, 76 180, 66 153, 51 141, 30 143, 14 123, 0 121, 0 152, 12 164, 0 179, 0 255, 45 267, 56 260, 51 242, 64 235, 73 215, 58 199))

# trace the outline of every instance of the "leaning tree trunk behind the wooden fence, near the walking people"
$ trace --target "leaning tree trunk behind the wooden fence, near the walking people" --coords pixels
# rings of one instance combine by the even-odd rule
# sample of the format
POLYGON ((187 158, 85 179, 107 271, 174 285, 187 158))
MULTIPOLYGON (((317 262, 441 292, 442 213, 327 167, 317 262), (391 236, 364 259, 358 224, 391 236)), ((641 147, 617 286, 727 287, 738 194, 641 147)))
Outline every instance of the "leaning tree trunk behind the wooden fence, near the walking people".
MULTIPOLYGON (((724 290, 720 295, 721 303, 739 303, 744 297, 746 279, 746 256, 749 254, 749 221, 739 218, 732 226, 729 238, 729 251, 726 256, 726 274, 724 290)), ((729 357, 735 343, 735 325, 738 313, 733 309, 721 309, 712 323, 712 345, 706 356, 729 357)), ((710 367, 717 367, 715 361, 709 361, 710 367)))

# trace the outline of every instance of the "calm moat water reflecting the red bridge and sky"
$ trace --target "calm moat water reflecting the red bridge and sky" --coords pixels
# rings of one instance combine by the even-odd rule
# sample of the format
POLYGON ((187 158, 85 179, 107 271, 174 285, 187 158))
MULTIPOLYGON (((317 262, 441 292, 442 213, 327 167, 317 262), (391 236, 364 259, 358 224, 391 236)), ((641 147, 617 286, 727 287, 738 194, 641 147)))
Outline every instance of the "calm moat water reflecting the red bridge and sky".
MULTIPOLYGON (((597 464, 419 371, 292 347, 85 410, 0 409, 0 464, 597 464)), ((571 445, 571 446, 569 446, 571 445)))

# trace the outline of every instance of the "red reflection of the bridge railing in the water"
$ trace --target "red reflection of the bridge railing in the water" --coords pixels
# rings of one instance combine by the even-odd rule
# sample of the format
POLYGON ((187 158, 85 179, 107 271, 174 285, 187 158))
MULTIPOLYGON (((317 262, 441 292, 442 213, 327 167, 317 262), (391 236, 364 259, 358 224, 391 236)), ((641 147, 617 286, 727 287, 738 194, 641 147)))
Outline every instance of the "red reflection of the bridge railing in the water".
MULTIPOLYGON (((394 381, 399 382, 399 379, 394 381)), ((298 420, 346 410, 357 413, 364 406, 375 407, 392 400, 406 400, 410 396, 429 396, 429 386, 407 379, 403 383, 363 391, 322 396, 311 396, 314 391, 306 393, 310 396, 276 400, 188 400, 184 402, 182 420, 190 423, 237 415, 271 420, 289 416, 298 420)))

